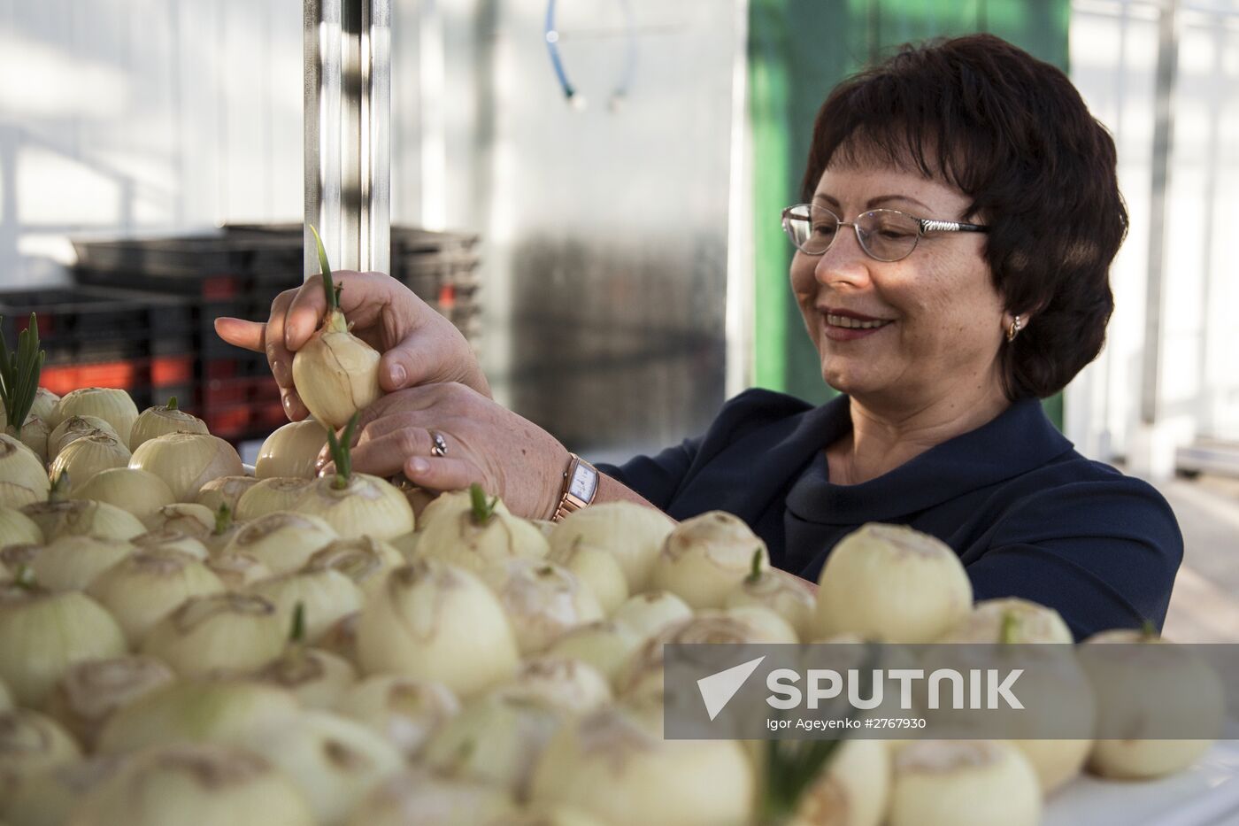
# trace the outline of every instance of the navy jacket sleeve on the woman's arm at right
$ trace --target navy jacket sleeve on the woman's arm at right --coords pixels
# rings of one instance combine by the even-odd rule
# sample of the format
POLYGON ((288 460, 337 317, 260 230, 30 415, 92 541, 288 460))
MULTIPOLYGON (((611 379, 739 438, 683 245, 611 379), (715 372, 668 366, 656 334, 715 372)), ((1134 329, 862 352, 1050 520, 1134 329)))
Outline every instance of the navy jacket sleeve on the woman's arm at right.
POLYGON ((995 525, 989 549, 966 569, 975 599, 1048 605, 1079 640, 1145 620, 1160 629, 1182 558, 1183 536, 1166 500, 1119 476, 1026 500, 995 525))

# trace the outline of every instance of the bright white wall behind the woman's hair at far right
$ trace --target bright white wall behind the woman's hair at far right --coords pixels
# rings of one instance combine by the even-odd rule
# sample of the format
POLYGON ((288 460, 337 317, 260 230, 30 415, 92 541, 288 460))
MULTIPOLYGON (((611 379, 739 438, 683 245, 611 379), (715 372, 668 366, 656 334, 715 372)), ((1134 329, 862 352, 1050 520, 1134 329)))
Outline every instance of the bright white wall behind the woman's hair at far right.
POLYGON ((1072 79, 1119 149, 1131 229, 1111 273, 1115 314, 1101 357, 1068 388, 1067 432, 1090 456, 1173 469, 1175 448, 1239 442, 1239 2, 1182 2, 1162 335, 1145 340, 1152 196, 1157 2, 1074 0, 1072 79), (1146 349, 1161 360, 1157 420, 1140 420, 1146 349))

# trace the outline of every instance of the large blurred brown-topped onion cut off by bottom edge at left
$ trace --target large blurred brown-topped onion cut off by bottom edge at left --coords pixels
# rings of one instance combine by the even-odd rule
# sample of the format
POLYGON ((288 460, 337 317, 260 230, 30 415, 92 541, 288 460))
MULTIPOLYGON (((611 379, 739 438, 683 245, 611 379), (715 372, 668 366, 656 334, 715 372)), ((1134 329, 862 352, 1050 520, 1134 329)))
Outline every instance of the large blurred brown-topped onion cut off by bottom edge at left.
POLYGON ((69 826, 312 826, 296 786, 256 754, 176 743, 134 757, 77 805, 69 826), (192 812, 192 814, 191 814, 192 812))

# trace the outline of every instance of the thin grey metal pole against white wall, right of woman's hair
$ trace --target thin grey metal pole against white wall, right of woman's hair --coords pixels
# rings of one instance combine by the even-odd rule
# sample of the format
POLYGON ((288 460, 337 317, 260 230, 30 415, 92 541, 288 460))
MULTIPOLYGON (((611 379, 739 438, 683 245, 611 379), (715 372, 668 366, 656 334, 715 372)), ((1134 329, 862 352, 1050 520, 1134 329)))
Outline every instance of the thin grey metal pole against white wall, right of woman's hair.
POLYGON ((1145 350, 1140 382, 1140 420, 1156 424, 1161 396, 1165 329, 1166 196, 1175 135, 1175 83, 1178 71, 1178 0, 1166 0, 1157 20, 1157 69, 1154 102, 1152 191, 1149 201, 1149 282, 1145 289, 1145 350))

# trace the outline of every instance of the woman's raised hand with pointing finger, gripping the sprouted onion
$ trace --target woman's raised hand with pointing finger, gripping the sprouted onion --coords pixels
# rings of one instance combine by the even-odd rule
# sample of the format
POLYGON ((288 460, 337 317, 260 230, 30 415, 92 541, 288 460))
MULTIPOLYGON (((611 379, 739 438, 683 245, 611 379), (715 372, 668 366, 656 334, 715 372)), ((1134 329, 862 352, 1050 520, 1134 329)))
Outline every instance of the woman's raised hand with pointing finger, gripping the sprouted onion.
MULTIPOLYGON (((489 398, 491 388, 465 336, 451 321, 430 309, 413 290, 383 273, 333 273, 342 285, 339 309, 353 335, 383 355, 379 384, 392 393, 418 384, 460 382, 489 398)), ((292 420, 310 412, 292 387, 292 356, 305 346, 327 309, 322 277, 271 301, 271 316, 261 321, 216 319, 216 332, 230 345, 265 352, 280 386, 284 411, 292 420)))

